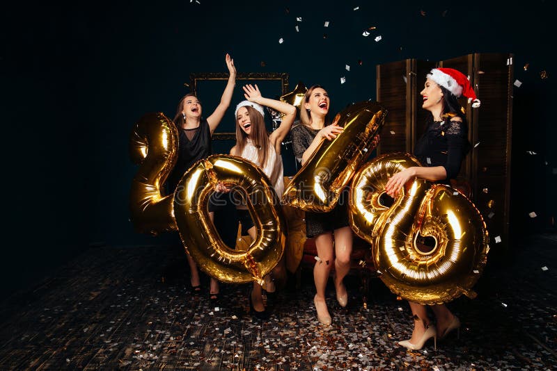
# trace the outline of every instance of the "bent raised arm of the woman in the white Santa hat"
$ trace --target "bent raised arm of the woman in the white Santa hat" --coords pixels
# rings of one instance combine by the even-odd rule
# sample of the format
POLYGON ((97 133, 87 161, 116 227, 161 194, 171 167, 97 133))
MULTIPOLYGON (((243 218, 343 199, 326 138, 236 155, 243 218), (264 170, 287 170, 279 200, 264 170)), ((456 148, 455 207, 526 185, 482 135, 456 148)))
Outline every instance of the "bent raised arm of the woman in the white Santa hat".
POLYGON ((244 97, 246 97, 249 101, 253 101, 254 103, 267 106, 283 113, 281 125, 278 126, 278 128, 276 128, 271 135, 269 135, 269 141, 276 150, 276 154, 281 154, 281 142, 286 134, 288 134, 288 131, 290 131, 292 122, 294 122, 294 119, 296 118, 296 107, 284 101, 262 97, 257 84, 255 86, 251 84, 244 85, 244 97))

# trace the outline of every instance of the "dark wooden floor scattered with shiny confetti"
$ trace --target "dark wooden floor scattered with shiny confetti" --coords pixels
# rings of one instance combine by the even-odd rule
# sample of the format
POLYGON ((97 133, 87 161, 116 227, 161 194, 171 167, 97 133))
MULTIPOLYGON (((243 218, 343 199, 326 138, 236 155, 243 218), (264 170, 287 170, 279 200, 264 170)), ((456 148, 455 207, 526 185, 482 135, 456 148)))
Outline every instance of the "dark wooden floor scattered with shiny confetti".
POLYGON ((372 278, 345 279, 347 308, 315 318, 313 276, 301 271, 268 320, 249 313, 249 284, 222 284, 213 302, 193 295, 178 247, 91 247, 0 305, 0 370, 555 370, 557 237, 537 235, 508 264, 487 265, 478 297, 448 304, 462 322, 409 351, 409 306, 372 278), (364 294, 366 305, 364 305, 364 294))

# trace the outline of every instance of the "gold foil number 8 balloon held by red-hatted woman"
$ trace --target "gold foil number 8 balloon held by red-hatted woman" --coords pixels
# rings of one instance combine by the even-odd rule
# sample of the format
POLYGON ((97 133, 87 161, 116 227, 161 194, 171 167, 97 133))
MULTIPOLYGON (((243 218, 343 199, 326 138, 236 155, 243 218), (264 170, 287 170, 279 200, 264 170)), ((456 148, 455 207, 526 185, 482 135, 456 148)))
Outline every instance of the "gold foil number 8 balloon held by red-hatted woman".
POLYGON ((387 154, 354 175, 352 229, 372 244, 380 277, 396 295, 421 304, 475 297, 471 288, 489 252, 483 217, 457 190, 423 179, 387 206, 382 201, 387 180, 411 166, 421 166, 414 156, 387 154))

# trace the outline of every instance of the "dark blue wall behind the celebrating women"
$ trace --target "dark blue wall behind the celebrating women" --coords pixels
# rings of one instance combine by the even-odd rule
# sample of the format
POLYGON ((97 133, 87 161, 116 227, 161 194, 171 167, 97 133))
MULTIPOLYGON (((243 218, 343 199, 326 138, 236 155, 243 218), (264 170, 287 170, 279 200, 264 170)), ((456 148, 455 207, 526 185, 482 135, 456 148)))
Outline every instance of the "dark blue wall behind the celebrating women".
MULTIPOLYGON (((375 66, 382 63, 515 53, 515 77, 523 85, 515 88, 514 226, 524 233, 551 229, 557 135, 550 1, 504 8, 446 1, 199 1, 21 3, 3 12, 6 290, 91 244, 168 242, 134 233, 128 221, 136 171, 128 157, 130 129, 144 113, 173 115, 189 74, 226 72, 225 53, 238 72, 288 72, 290 88, 298 81, 324 85, 334 112, 375 99, 375 66), (540 79, 542 70, 549 79, 540 79), (531 220, 530 211, 540 217, 531 220)), ((233 104, 239 91, 240 84, 233 104)), ((219 131, 232 129, 227 113, 219 131)))

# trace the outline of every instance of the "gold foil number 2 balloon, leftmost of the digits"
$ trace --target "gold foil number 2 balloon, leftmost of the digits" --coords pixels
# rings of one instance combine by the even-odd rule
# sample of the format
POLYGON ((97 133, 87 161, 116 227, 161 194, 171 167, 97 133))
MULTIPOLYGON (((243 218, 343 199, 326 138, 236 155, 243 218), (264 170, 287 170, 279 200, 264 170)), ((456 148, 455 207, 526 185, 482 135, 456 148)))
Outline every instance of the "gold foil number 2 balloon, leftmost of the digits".
POLYGON ((130 156, 139 170, 130 191, 130 220, 136 231, 175 231, 172 202, 161 187, 178 158, 178 129, 162 113, 143 115, 130 136, 130 156))

